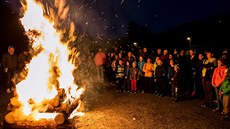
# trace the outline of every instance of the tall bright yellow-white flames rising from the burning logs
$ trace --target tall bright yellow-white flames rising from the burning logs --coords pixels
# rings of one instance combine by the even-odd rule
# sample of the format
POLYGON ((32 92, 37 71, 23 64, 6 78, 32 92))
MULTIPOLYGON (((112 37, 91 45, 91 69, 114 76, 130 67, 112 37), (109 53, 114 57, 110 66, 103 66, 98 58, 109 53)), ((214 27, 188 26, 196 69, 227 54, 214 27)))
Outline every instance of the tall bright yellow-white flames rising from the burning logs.
MULTIPOLYGON (((65 6, 65 1, 60 1, 59 5, 55 1, 55 5, 60 7, 58 10, 60 18, 65 19, 69 10, 65 6)), ((63 32, 55 29, 55 16, 50 16, 51 20, 45 17, 42 4, 35 0, 27 1, 23 7, 25 14, 20 20, 32 43, 34 56, 26 65, 28 73, 26 78, 16 85, 20 106, 14 112, 28 116, 25 119, 38 120, 41 116, 54 118, 56 113, 42 114, 41 111, 47 110, 47 103, 58 95, 58 89, 64 89, 66 94, 62 103, 69 104, 73 104, 80 98, 84 89, 74 83, 72 73, 76 66, 69 60, 69 55, 73 55, 73 51, 68 48, 68 43, 61 41, 63 32)), ((69 40, 74 39, 73 28, 72 22, 69 40)), ((72 60, 74 58, 76 56, 73 56, 72 60)))

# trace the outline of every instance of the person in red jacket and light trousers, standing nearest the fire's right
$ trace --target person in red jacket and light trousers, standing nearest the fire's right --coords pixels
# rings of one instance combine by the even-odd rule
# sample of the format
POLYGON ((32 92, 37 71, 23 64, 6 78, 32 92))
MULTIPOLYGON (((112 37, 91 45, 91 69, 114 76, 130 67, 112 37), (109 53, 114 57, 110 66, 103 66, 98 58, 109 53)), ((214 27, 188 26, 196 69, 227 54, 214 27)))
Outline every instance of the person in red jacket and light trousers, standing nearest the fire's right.
POLYGON ((98 49, 94 57, 94 62, 96 65, 97 78, 99 82, 104 81, 104 65, 106 63, 106 55, 102 52, 102 48, 98 49))

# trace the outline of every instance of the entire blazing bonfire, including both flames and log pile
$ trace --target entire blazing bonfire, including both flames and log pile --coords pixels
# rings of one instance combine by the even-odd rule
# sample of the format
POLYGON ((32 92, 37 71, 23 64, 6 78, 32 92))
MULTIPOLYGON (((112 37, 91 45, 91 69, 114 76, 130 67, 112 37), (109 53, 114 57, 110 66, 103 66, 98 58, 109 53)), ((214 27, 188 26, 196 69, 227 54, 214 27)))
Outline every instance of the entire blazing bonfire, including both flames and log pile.
POLYGON ((69 40, 62 42, 61 35, 66 30, 55 29, 53 21, 63 20, 68 6, 63 1, 54 2, 59 17, 53 11, 50 17, 43 16, 42 3, 36 0, 23 3, 25 13, 21 22, 31 43, 33 58, 26 65, 25 78, 16 83, 15 95, 8 104, 9 113, 5 116, 8 124, 61 125, 78 113, 84 88, 78 87, 73 77, 74 60, 79 53, 68 47, 74 39, 74 25, 70 24, 69 40))

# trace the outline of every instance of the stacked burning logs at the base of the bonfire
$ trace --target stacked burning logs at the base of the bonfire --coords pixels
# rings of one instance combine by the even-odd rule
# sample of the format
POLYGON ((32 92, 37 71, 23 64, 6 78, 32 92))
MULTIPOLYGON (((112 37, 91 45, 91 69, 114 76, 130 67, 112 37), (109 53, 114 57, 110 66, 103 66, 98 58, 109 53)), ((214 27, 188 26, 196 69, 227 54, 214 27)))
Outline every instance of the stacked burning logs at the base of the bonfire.
MULTIPOLYGON (((66 99, 67 94, 64 89, 58 89, 58 94, 51 100, 44 100, 42 103, 36 104, 33 99, 28 100, 31 113, 25 115, 23 104, 19 102, 18 96, 10 99, 7 106, 8 114, 5 115, 5 125, 19 127, 56 127, 69 123, 68 117, 80 106, 79 98, 66 99), (36 112, 36 113, 33 113, 36 112), (39 120, 35 119, 35 115, 39 116, 39 120), (49 117, 47 117, 49 116, 49 117)), ((65 127, 67 128, 67 127, 65 127)))

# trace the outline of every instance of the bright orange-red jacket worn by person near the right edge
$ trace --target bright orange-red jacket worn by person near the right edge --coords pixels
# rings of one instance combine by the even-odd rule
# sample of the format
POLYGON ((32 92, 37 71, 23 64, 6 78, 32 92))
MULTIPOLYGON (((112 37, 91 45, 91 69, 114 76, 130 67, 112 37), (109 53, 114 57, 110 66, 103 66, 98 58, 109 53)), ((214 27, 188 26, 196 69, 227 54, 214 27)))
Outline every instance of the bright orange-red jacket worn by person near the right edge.
POLYGON ((226 75, 225 70, 226 70, 226 66, 220 66, 215 68, 212 75, 212 86, 219 87, 222 84, 226 75))

